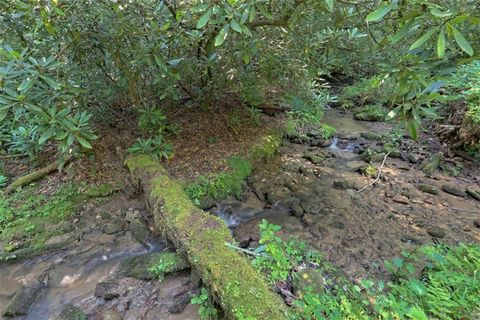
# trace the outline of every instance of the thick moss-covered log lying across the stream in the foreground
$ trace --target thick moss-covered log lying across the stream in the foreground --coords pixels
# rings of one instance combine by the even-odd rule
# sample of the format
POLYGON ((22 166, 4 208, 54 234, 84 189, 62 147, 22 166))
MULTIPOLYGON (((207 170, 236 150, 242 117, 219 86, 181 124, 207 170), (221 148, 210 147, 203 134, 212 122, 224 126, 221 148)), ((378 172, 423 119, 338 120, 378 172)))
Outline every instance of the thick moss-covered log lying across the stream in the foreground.
POLYGON ((155 224, 187 256, 228 318, 286 319, 281 299, 244 256, 225 245, 234 240, 223 221, 197 208, 151 157, 133 157, 126 165, 145 192, 155 224))

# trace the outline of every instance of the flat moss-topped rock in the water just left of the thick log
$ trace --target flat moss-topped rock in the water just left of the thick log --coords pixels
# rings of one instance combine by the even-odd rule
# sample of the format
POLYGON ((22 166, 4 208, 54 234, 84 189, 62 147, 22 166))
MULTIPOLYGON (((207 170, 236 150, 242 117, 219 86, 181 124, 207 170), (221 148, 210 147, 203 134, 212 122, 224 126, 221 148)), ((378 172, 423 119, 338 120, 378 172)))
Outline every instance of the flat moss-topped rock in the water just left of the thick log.
POLYGON ((169 273, 190 268, 188 261, 174 252, 149 253, 131 257, 120 263, 120 273, 140 280, 163 278, 169 273))

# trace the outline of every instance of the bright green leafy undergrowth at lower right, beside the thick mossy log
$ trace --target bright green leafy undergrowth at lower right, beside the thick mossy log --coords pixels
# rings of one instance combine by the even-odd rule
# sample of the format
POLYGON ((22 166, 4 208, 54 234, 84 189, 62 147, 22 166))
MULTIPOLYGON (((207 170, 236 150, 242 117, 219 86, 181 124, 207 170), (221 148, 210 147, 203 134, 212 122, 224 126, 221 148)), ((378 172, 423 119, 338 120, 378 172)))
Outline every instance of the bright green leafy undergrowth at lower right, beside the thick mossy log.
POLYGON ((385 261, 390 281, 354 284, 304 243, 282 240, 279 226, 263 220, 260 230, 253 264, 270 283, 293 287, 291 319, 480 317, 478 245, 431 245, 403 252, 402 257, 385 261), (414 264, 423 267, 416 270, 414 264))

